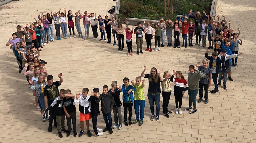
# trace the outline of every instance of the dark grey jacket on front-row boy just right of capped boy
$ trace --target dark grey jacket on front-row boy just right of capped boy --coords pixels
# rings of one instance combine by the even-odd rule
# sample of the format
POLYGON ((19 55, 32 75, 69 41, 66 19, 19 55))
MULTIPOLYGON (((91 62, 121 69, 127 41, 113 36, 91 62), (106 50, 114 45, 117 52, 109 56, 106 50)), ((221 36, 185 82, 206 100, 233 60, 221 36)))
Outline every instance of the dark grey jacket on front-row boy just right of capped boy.
POLYGON ((113 96, 110 93, 108 93, 107 95, 104 95, 102 93, 99 96, 99 99, 96 100, 96 103, 99 103, 100 100, 101 100, 101 111, 105 114, 110 113, 114 106, 113 96))

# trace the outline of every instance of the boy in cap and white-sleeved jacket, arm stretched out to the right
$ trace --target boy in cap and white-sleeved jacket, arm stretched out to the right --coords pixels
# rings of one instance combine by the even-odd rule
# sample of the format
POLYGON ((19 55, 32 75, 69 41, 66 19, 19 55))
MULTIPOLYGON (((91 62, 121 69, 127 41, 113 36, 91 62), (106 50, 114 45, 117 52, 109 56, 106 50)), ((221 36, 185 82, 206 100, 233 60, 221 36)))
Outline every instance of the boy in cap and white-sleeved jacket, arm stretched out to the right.
POLYGON ((226 54, 227 54, 227 50, 226 49, 222 49, 220 55, 218 55, 219 58, 221 56, 223 56, 223 58, 225 58, 224 62, 220 63, 219 82, 218 82, 218 86, 220 86, 221 85, 221 80, 224 79, 224 81, 223 81, 223 89, 227 89, 226 83, 227 83, 227 72, 228 72, 228 68, 230 66, 229 65, 229 60, 232 59, 232 58, 236 58, 239 55, 242 55, 242 53, 240 53, 240 54, 233 54, 233 55, 226 55, 226 54), (223 75, 223 77, 222 77, 222 75, 223 75))

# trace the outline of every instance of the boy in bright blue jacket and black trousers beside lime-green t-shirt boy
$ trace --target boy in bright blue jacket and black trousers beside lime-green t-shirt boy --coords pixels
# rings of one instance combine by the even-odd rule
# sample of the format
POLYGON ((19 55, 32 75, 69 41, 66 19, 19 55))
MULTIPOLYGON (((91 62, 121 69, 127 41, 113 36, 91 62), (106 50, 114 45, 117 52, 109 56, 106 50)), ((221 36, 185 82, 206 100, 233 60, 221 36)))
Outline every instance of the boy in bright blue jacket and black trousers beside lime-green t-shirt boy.
POLYGON ((132 125, 132 105, 134 100, 132 91, 135 91, 135 88, 132 85, 129 85, 129 79, 127 77, 123 79, 123 82, 123 86, 119 86, 119 91, 123 92, 124 125, 128 126, 127 109, 129 111, 129 125, 132 125))

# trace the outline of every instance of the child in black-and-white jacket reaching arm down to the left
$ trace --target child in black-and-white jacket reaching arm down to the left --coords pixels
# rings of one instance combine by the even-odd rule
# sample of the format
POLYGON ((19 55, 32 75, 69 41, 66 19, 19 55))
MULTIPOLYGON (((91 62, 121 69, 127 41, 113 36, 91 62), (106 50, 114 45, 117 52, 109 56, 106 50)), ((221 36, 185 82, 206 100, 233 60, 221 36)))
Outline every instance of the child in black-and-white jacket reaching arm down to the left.
POLYGON ((60 138, 63 137, 61 132, 68 133, 68 130, 65 129, 65 112, 62 104, 64 92, 65 92, 64 89, 60 89, 60 95, 56 97, 53 100, 53 102, 46 109, 44 109, 44 112, 42 113, 42 115, 45 115, 45 111, 48 111, 48 110, 55 111, 56 121, 57 121, 57 131, 60 138))

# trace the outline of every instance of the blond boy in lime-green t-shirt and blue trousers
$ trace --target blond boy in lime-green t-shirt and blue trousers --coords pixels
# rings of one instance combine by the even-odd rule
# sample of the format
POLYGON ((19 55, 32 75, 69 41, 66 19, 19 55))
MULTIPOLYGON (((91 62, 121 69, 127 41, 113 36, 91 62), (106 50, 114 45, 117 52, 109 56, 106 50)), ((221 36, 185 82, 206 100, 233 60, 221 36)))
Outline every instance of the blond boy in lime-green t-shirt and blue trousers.
POLYGON ((133 124, 136 124, 138 121, 140 121, 139 125, 141 126, 143 124, 143 119, 144 119, 145 97, 143 92, 144 92, 145 80, 141 81, 141 77, 138 76, 135 78, 135 82, 136 84, 134 84, 133 80, 131 81, 132 85, 135 88, 134 110, 135 110, 136 120, 133 122, 133 124), (141 113, 141 120, 139 120, 140 118, 139 109, 141 113))

